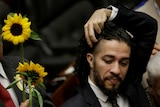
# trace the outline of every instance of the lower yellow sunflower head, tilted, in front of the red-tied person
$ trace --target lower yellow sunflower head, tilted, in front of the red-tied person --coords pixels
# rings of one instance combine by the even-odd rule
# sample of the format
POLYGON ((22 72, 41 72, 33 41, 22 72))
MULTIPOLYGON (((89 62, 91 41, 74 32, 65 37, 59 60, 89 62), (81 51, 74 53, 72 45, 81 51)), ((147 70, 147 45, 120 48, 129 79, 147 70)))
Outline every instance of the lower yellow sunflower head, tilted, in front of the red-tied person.
POLYGON ((25 73, 25 75, 21 75, 21 78, 25 81, 31 79, 31 84, 35 86, 37 86, 39 83, 43 83, 43 77, 47 75, 47 72, 44 72, 44 67, 38 63, 34 64, 32 61, 30 61, 30 64, 27 62, 20 62, 16 70, 20 74, 25 73))

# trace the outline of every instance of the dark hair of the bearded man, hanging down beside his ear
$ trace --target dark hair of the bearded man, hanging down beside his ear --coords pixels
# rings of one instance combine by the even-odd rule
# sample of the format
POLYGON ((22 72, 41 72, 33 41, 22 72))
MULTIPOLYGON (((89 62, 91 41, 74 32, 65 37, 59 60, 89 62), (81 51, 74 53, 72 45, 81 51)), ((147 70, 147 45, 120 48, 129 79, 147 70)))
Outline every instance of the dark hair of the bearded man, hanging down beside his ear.
POLYGON ((112 22, 106 22, 102 33, 96 33, 95 36, 98 42, 94 43, 92 48, 90 48, 87 44, 84 35, 79 42, 75 65, 75 74, 78 76, 80 83, 84 83, 88 78, 88 75, 90 74, 90 66, 87 61, 86 55, 87 53, 93 53, 101 40, 117 40, 125 42, 129 47, 131 47, 132 45, 131 35, 129 35, 129 33, 127 33, 123 28, 115 25, 112 22))

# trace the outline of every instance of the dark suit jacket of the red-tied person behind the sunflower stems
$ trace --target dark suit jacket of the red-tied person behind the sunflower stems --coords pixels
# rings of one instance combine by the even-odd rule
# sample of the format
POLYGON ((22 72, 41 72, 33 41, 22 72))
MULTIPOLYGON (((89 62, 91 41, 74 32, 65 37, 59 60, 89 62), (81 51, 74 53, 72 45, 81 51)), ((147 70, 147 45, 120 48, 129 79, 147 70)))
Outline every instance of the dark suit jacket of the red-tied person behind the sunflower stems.
MULTIPOLYGON (((20 57, 16 56, 4 56, 1 60, 3 69, 11 82, 14 81, 13 77, 15 76, 16 67, 18 66, 19 61, 21 61, 20 57)), ((43 97, 44 107, 54 107, 52 100, 47 95, 47 93, 41 88, 38 88, 38 90, 43 97)), ((22 102, 22 92, 17 87, 14 87, 14 91, 17 95, 18 102, 20 104, 22 102)), ((5 107, 1 101, 0 107, 5 107)), ((33 100, 33 107, 39 107, 39 104, 35 99, 33 100)))

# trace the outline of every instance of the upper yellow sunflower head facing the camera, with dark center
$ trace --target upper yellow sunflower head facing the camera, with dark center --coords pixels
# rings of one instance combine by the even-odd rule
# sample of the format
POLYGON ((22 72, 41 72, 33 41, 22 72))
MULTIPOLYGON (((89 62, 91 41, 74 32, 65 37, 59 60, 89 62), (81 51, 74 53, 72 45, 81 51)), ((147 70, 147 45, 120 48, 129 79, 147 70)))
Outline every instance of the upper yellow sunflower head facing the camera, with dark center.
POLYGON ((22 17, 21 14, 14 13, 7 15, 7 20, 4 20, 5 25, 2 28, 2 37, 4 40, 12 42, 14 45, 24 43, 31 35, 30 25, 27 17, 22 17))

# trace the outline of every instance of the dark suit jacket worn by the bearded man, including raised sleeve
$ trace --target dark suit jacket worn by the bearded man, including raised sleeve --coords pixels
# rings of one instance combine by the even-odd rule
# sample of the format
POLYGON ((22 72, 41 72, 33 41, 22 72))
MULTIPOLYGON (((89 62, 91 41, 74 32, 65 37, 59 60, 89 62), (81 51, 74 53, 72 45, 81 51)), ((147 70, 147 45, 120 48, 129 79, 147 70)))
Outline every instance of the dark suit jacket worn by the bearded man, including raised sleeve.
MULTIPOLYGON (((115 6, 119 8, 119 12, 113 22, 134 36, 129 70, 119 91, 128 97, 131 107, 149 107, 145 90, 140 82, 155 43, 157 21, 119 4, 115 6)), ((100 103, 86 82, 86 85, 80 88, 79 94, 65 102, 62 107, 100 107, 100 103)))

